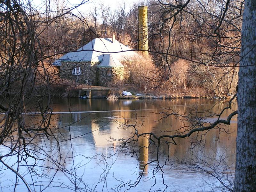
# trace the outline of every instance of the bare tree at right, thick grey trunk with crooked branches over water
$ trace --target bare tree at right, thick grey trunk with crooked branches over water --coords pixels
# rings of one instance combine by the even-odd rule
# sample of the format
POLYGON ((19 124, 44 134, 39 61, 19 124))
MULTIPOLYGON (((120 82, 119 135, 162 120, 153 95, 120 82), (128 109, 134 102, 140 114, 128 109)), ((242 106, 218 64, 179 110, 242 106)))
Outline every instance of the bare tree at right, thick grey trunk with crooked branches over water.
MULTIPOLYGON (((164 64, 159 65, 156 68, 156 74, 159 73, 159 77, 163 77, 164 81, 167 81, 172 74, 172 65, 168 57, 186 59, 188 61, 197 64, 197 66, 206 66, 207 71, 214 77, 217 82, 217 88, 221 80, 226 75, 233 75, 236 67, 239 67, 239 81, 238 92, 234 94, 229 100, 229 106, 220 111, 219 114, 213 114, 217 117, 215 122, 205 122, 203 119, 206 117, 197 116, 196 109, 194 112, 180 114, 172 109, 165 108, 163 111, 163 118, 174 116, 184 122, 184 126, 177 127, 173 133, 168 132, 163 135, 156 135, 154 132, 140 132, 137 124, 121 123, 120 126, 127 128, 133 128, 131 137, 128 139, 120 139, 122 141, 122 147, 134 152, 136 147, 150 148, 150 146, 156 148, 156 158, 151 162, 145 164, 144 168, 148 164, 156 163, 156 170, 163 172, 163 166, 159 162, 158 156, 161 143, 165 143, 168 148, 172 145, 176 145, 178 138, 197 138, 198 143, 202 142, 200 134, 207 135, 207 132, 213 129, 221 129, 220 124, 230 124, 232 117, 238 115, 238 130, 237 130, 237 151, 236 151, 236 177, 234 189, 229 186, 227 189, 232 191, 253 191, 255 190, 255 3, 253 1, 234 2, 223 1, 222 3, 214 4, 213 1, 199 2, 199 1, 171 1, 163 2, 158 1, 161 6, 161 19, 159 21, 159 35, 160 41, 157 45, 160 49, 156 51, 161 52, 163 55, 164 64), (243 13, 244 11, 244 13, 243 13), (243 15, 243 27, 241 30, 243 15), (195 28, 193 31, 187 31, 183 28, 183 22, 185 19, 191 17, 191 22, 194 21, 195 28), (201 26, 201 27, 200 27, 201 26), (180 31, 180 29, 182 29, 180 31), (176 31, 177 30, 177 31, 176 31), (173 38, 177 36, 177 33, 191 34, 191 37, 197 38, 201 42, 204 42, 200 47, 195 47, 192 50, 194 53, 192 56, 187 57, 180 55, 175 49, 173 44, 173 38), (164 41, 164 34, 167 34, 167 49, 163 52, 162 48, 166 41, 164 41), (198 35, 197 35, 198 34, 198 35), (242 34, 242 35, 241 35, 242 34), (240 53, 240 37, 242 36, 241 53, 240 53), (172 50, 176 52, 172 52, 172 50), (240 59, 239 56, 240 55, 240 59), (230 63, 231 62, 231 63, 230 63), (210 67, 225 68, 223 75, 216 78, 210 67), (232 68, 231 73, 227 71, 232 68), (165 73, 167 73, 165 75, 165 73), (223 112, 229 109, 233 105, 233 101, 238 100, 238 110, 233 111, 228 115, 226 120, 220 119, 223 112), (148 145, 138 145, 140 138, 147 138, 148 145), (137 143, 137 144, 136 144, 137 143), (136 147, 135 147, 136 146, 136 147)), ((192 24, 192 23, 190 23, 192 24)), ((192 25, 193 26, 193 25, 192 25)), ((188 26, 187 26, 188 27, 188 26)), ((182 36, 181 36, 182 37, 182 36)), ((172 59, 171 58, 171 59, 172 59)), ((157 76, 158 78, 158 76, 157 76)), ((228 80, 227 80, 228 81, 228 80)), ((230 90, 231 82, 228 82, 228 90, 230 90)), ((234 86, 234 85, 233 85, 234 86)), ((220 93, 223 90, 219 90, 220 93)), ((136 150, 139 151, 139 150, 136 150)), ((169 159, 166 160, 169 162, 169 159)), ((130 187, 136 187, 140 182, 139 179, 134 183, 124 183, 130 187)), ((225 185, 225 184, 224 184, 225 185)))

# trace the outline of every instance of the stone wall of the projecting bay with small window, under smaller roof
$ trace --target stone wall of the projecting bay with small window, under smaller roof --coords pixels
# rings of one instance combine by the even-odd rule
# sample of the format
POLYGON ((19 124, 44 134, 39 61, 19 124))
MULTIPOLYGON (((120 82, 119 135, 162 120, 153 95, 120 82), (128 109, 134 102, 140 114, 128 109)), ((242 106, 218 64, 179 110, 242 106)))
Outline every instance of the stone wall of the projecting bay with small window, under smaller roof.
POLYGON ((124 79, 123 67, 100 67, 99 71, 99 85, 108 86, 117 83, 124 79), (108 70, 111 70, 111 76, 107 75, 108 70))

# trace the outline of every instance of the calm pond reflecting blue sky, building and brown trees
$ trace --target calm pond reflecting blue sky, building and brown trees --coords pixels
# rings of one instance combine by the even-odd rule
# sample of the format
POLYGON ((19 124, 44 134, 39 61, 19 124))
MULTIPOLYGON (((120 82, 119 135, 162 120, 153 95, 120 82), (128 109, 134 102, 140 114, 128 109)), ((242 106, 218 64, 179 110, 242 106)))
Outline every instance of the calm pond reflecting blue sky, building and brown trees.
MULTIPOLYGON (((134 127, 122 125, 136 124, 139 133, 174 135, 185 132, 193 122, 214 122, 217 118, 212 113, 220 113, 227 106, 228 103, 208 99, 55 98, 51 106, 51 136, 47 139, 42 135, 34 141, 36 156, 46 160, 38 160, 31 174, 25 163, 19 172, 28 183, 34 183, 30 187, 35 191, 48 185, 44 191, 74 191, 74 186, 77 191, 223 191, 220 181, 231 186, 234 178, 237 116, 230 125, 175 139, 176 145, 170 143, 171 139, 164 139, 159 148, 148 135, 124 146, 134 127), (163 118, 171 110, 181 116, 163 118), (191 117, 191 124, 180 120, 185 115, 191 117), (149 162, 152 163, 146 165, 149 162)), ((227 118, 236 108, 233 103, 221 118, 227 118)), ((39 117, 27 118, 30 123, 39 121, 39 117)), ((1 146, 2 154, 8 151, 1 146)), ((35 163, 29 161, 28 164, 35 163)), ((15 164, 17 157, 6 158, 5 162, 15 164)), ((5 170, 4 165, 0 174, 3 191, 12 191, 15 174, 5 170)), ((22 180, 18 182, 16 191, 27 191, 22 180)))

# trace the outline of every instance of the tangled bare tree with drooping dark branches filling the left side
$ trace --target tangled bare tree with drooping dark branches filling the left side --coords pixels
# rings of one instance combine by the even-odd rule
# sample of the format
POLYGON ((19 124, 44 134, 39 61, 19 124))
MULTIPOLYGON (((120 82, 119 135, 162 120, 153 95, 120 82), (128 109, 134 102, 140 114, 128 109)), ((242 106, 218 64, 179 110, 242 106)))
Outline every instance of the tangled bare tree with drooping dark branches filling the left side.
POLYGON ((0 2, 0 145, 4 149, 0 162, 5 170, 15 175, 9 186, 13 191, 20 185, 24 185, 27 191, 42 191, 53 185, 77 190, 77 181, 86 188, 76 175, 75 165, 72 168, 75 172, 66 169, 63 160, 67 157, 61 156, 59 145, 56 153, 51 154, 47 146, 38 142, 54 137, 53 132, 58 131, 51 125, 54 119, 50 108, 53 74, 44 63, 49 57, 45 50, 58 39, 52 42, 48 39, 50 44, 47 47, 44 47, 42 39, 47 39, 44 34, 50 36, 51 29, 59 29, 60 26, 64 29, 65 24, 59 19, 67 18, 68 14, 71 16, 77 7, 60 7, 54 15, 50 1, 45 6, 46 11, 41 12, 30 3, 16 0, 0 2), (44 164, 44 161, 50 164, 44 164), (45 170, 54 170, 55 173, 48 177, 45 170), (57 172, 65 172, 72 185, 52 183, 57 172), (30 179, 34 176, 41 179, 30 179))

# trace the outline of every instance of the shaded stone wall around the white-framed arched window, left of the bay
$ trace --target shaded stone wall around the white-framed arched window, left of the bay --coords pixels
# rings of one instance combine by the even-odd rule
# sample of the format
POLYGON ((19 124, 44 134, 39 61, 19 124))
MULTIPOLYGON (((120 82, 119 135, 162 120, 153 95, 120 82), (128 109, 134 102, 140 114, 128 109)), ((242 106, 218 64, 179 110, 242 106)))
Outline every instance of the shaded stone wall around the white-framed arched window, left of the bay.
POLYGON ((98 70, 97 65, 99 62, 61 62, 60 78, 69 79, 78 83, 85 83, 89 80, 90 84, 98 85, 98 70), (73 75, 73 68, 80 67, 81 74, 73 75))

